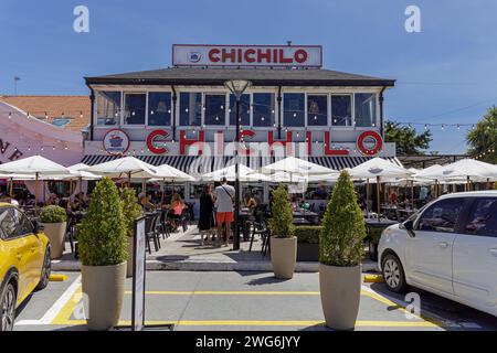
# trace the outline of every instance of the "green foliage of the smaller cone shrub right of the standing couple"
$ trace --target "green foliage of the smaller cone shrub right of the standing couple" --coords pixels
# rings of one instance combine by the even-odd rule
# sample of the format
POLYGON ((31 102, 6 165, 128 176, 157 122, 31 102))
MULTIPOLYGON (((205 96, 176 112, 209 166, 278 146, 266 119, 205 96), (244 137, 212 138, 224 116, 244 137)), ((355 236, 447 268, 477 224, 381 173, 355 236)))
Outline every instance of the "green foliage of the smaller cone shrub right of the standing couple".
POLYGON ((274 237, 289 238, 294 234, 294 213, 288 193, 283 184, 273 191, 273 207, 268 226, 274 237))

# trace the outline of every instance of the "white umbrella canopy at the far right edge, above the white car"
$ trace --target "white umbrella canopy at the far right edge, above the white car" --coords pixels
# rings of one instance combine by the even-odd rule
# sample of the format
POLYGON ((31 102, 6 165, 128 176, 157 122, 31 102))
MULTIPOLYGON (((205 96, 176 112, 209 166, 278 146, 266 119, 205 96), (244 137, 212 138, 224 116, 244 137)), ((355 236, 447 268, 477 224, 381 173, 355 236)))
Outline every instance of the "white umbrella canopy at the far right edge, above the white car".
POLYGON ((424 170, 422 176, 437 180, 462 180, 475 181, 497 180, 497 165, 477 161, 474 159, 462 159, 457 162, 446 164, 433 170, 424 170))

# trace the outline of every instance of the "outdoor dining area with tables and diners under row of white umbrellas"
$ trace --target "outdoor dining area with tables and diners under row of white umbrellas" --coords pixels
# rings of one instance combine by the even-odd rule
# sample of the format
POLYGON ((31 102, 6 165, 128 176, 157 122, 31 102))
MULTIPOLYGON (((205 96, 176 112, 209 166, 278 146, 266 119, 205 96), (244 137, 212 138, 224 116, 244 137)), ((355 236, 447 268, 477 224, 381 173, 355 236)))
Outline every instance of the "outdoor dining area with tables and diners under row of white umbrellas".
MULTIPOLYGON (((198 218, 202 215, 195 210, 202 197, 186 200, 177 191, 177 186, 202 185, 204 191, 210 190, 211 193, 222 179, 226 179, 229 183, 237 180, 241 197, 234 200, 235 220, 229 232, 233 249, 218 250, 242 248, 253 252, 256 244, 256 248, 267 255, 271 253, 271 231, 267 226, 272 216, 271 190, 285 184, 290 197, 297 238, 302 234, 298 242, 318 243, 322 216, 340 171, 295 157, 282 158, 256 170, 236 164, 234 161, 210 173, 193 175, 168 164, 151 165, 134 157, 121 157, 92 167, 81 163, 63 167, 34 156, 0 164, 0 179, 7 181, 0 202, 18 205, 32 221, 40 221, 41 210, 47 205, 64 208, 66 225, 63 247, 68 244, 65 253, 77 256, 77 224, 85 217, 92 200, 91 186, 107 176, 119 188, 135 190, 136 204, 140 215, 146 217, 148 254, 168 246, 170 243, 165 240, 170 239, 171 234, 186 234, 189 229, 199 234, 195 237, 195 249, 204 249, 213 244, 210 240, 216 236, 215 224, 203 232, 199 231, 200 226, 197 229, 198 218), (254 183, 264 185, 266 192, 261 195, 246 189, 246 185, 254 183)), ((372 259, 385 227, 405 221, 444 193, 494 189, 497 181, 496 165, 472 159, 415 170, 385 159, 371 158, 348 169, 348 172, 355 182, 357 201, 368 229, 364 248, 372 259)), ((215 199, 215 194, 212 197, 215 199)), ((202 210, 201 204, 200 208, 202 210)))

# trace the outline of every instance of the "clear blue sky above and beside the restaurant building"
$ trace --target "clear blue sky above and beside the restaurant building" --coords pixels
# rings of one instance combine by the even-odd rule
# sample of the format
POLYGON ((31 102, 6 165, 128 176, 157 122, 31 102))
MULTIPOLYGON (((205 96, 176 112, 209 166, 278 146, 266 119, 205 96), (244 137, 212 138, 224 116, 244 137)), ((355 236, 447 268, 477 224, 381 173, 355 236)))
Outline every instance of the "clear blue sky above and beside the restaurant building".
MULTIPOLYGON (((170 65, 172 43, 321 44, 325 67, 395 78, 385 117, 476 122, 497 105, 497 1, 2 0, 0 94, 88 94, 83 76, 170 65), (89 33, 73 31, 74 7, 89 33), (421 33, 404 30, 406 6, 421 33)), ((423 127, 420 127, 423 130, 423 127)), ((431 150, 463 153, 464 129, 432 129, 431 150)))

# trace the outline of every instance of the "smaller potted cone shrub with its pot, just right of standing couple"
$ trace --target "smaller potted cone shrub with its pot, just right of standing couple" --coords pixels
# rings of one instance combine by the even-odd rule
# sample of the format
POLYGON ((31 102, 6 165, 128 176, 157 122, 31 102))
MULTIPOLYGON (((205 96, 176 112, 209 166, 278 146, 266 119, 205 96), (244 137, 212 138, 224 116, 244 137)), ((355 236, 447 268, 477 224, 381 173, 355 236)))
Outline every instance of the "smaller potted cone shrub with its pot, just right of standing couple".
POLYGON ((283 184, 273 191, 271 229, 271 263, 276 278, 294 277, 297 261, 297 238, 294 236, 294 214, 283 184))

